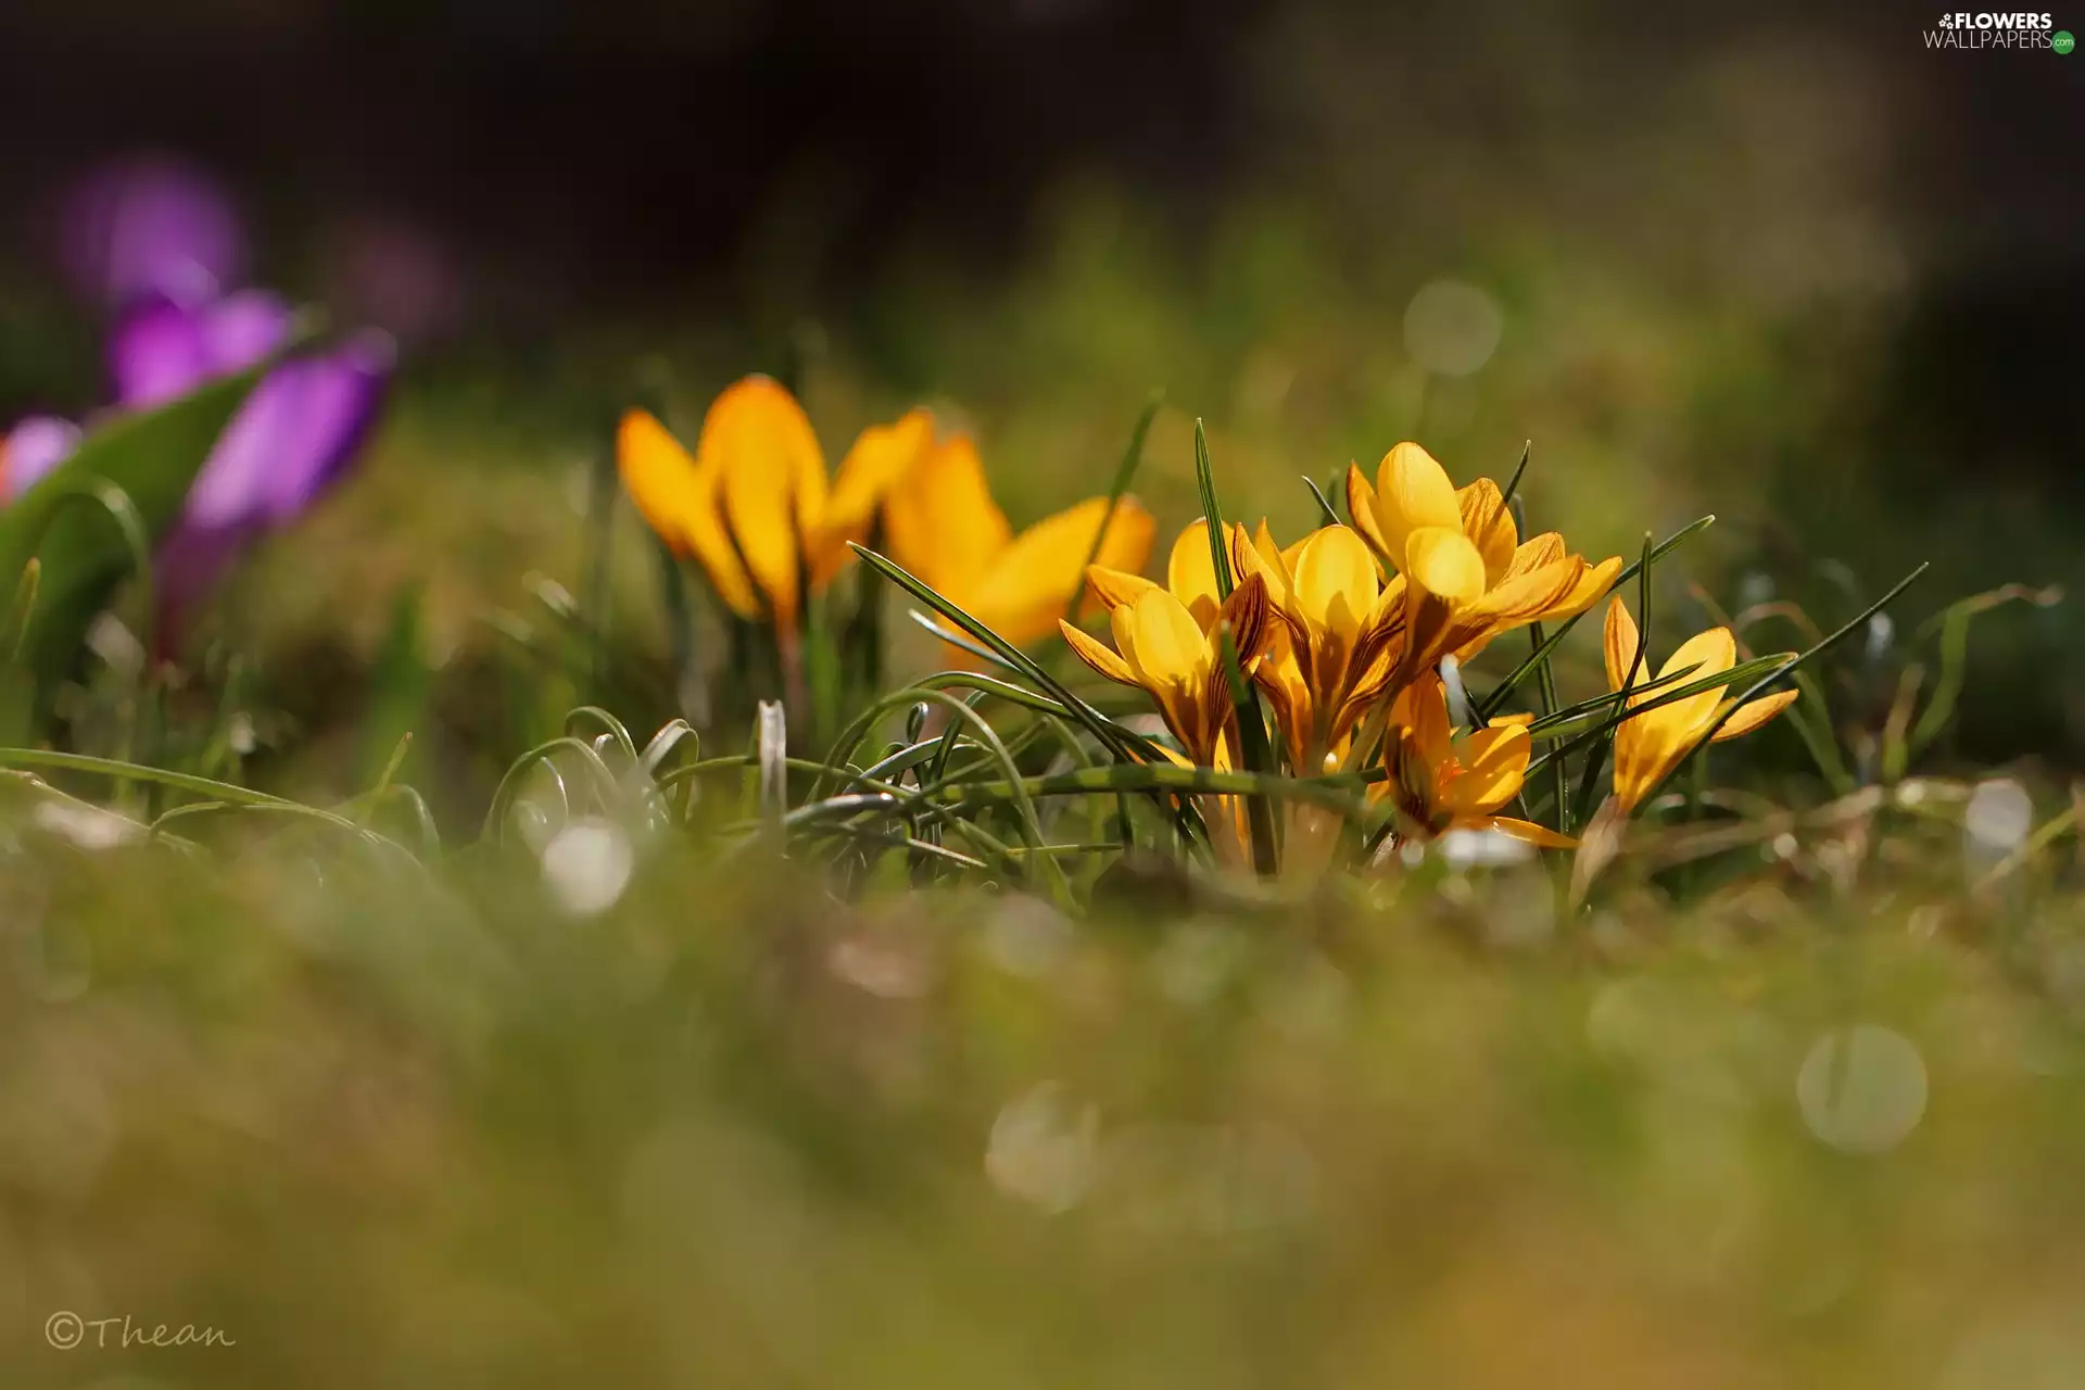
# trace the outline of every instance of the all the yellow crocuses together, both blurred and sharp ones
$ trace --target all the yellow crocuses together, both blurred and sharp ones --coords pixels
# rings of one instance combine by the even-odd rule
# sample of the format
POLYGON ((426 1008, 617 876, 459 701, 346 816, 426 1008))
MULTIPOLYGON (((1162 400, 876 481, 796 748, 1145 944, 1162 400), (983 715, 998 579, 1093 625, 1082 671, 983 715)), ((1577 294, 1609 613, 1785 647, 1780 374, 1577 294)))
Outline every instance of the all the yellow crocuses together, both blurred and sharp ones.
MULTIPOLYGON (((1015 533, 976 446, 938 438, 926 411, 863 429, 828 479, 803 406, 780 383, 746 377, 709 406, 692 454, 632 411, 617 461, 646 521, 703 567, 719 600, 774 625, 784 667, 807 600, 849 565, 849 542, 874 540, 1007 642, 1034 642, 1055 625, 1088 667, 1145 690, 1182 763, 1238 767, 1236 661, 1274 711, 1289 773, 1380 765, 1372 790, 1393 806, 1399 838, 1497 829, 1568 844, 1501 815, 1530 763, 1528 717, 1457 734, 1441 663, 1468 661, 1516 627, 1585 613, 1614 588, 1622 561, 1587 561, 1555 531, 1522 540, 1493 479, 1455 488, 1418 444, 1393 448, 1374 481, 1349 467, 1351 527, 1324 525, 1282 546, 1266 523, 1253 533, 1228 525, 1220 544, 1228 596, 1203 521, 1174 542, 1163 584, 1140 577, 1153 521, 1130 498, 1086 498, 1015 533), (1082 567, 1113 646, 1065 621, 1082 567)), ((1703 740, 1756 729, 1795 698, 1783 692, 1731 709, 1726 688, 1712 688, 1651 704, 1662 692, 1628 694, 1647 669, 1637 642, 1614 598, 1610 690, 1624 696, 1624 711, 1643 706, 1614 736, 1614 796, 1624 811, 1703 740)), ((1733 665, 1733 636, 1716 627, 1685 642, 1660 679, 1714 677, 1733 665)))

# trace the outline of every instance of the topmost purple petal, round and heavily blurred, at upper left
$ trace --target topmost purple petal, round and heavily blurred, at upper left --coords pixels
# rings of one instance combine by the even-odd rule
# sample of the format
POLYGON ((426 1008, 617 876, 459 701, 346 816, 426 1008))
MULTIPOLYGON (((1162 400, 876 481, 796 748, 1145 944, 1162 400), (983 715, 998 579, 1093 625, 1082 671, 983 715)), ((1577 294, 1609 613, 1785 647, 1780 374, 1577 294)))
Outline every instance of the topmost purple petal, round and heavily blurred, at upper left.
POLYGON ((244 258, 231 200, 188 165, 108 165, 67 200, 65 263, 81 290, 113 304, 146 294, 200 304, 236 279, 244 258))

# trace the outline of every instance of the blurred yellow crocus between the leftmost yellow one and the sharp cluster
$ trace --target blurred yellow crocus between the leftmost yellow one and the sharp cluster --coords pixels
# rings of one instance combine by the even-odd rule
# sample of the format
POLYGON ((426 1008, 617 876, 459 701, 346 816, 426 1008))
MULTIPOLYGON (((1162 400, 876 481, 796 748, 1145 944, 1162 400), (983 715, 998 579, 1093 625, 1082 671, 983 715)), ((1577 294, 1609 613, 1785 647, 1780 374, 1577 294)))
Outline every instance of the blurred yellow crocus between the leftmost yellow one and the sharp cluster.
POLYGON ((1113 517, 1107 498, 1086 498, 1015 536, 961 436, 926 450, 884 496, 890 559, 1013 644, 1047 636, 1072 609, 1095 538, 1097 563, 1143 569, 1151 533, 1134 498, 1120 498, 1113 517))

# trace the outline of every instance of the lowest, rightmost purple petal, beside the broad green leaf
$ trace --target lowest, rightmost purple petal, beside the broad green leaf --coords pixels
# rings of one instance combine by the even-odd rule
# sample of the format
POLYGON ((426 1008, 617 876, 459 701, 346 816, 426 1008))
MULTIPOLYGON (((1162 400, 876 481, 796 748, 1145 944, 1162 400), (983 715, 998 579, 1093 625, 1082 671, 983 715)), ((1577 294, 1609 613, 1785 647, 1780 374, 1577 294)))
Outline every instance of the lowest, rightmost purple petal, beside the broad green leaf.
POLYGON ((202 465, 188 521, 238 527, 304 511, 369 433, 390 363, 390 340, 367 333, 271 371, 202 465))

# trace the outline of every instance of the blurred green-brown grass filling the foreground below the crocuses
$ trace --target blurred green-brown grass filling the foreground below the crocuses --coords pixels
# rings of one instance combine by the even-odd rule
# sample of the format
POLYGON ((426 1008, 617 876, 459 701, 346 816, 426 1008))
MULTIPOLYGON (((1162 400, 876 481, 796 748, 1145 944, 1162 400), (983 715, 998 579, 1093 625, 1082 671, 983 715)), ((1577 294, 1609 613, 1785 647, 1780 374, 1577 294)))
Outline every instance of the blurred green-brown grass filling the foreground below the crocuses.
POLYGON ((571 919, 525 854, 23 834, 10 1386, 2085 1371, 2085 917, 1939 907, 1943 848, 1547 940, 1541 875, 1074 925, 655 844, 571 919), (1856 1023, 1912 1071, 1799 1098, 1856 1023), (58 1352, 58 1309, 238 1346, 58 1352))

